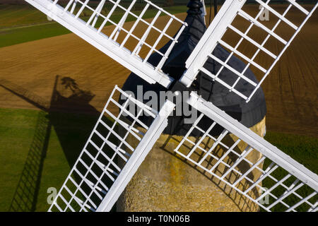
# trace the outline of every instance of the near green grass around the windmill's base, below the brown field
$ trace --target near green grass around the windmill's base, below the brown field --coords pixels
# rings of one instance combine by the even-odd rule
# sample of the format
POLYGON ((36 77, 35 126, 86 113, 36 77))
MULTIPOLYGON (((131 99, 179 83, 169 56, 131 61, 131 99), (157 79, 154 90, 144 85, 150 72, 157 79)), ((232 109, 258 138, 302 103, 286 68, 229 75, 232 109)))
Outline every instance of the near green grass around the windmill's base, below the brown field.
MULTIPOLYGON (((0 211, 46 211, 47 189, 59 189, 97 118, 0 109, 0 211)), ((317 138, 268 132, 266 140, 318 172, 317 138)))

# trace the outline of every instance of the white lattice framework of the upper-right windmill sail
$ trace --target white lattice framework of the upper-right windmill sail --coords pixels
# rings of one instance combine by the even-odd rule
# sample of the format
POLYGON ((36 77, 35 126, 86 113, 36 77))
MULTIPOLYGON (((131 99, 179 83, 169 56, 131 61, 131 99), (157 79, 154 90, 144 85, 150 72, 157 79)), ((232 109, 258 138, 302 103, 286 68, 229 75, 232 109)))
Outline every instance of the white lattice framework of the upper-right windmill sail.
POLYGON ((290 46, 290 43, 293 42, 295 36, 298 34, 298 32, 300 32, 303 25, 305 25, 307 20, 310 18, 310 16, 312 16, 312 13, 316 10, 318 6, 317 3, 312 7, 310 11, 307 11, 304 7, 298 4, 297 1, 286 0, 286 3, 288 3, 288 7, 286 7, 284 13, 281 14, 269 5, 271 3, 270 0, 266 0, 266 2, 262 0, 256 1, 261 7, 259 12, 257 13, 257 16, 255 17, 250 16, 249 13, 246 13, 242 10, 242 7, 245 6, 246 0, 225 1, 223 6, 220 8, 220 11, 218 12, 216 18, 214 18, 211 25, 208 26, 208 29, 204 33, 203 37, 201 38, 199 43, 196 44, 194 51, 187 59, 187 71, 185 71, 182 75, 182 78, 180 78, 181 83, 189 87, 196 79, 198 73, 202 71, 203 73, 206 73, 208 76, 213 78, 213 81, 221 83, 226 88, 228 88, 229 92, 236 93, 244 100, 246 100, 246 102, 249 102, 249 100, 251 100, 252 96, 261 86, 261 83, 263 83, 265 78, 269 75, 269 73, 271 73, 273 66, 275 66, 279 59, 281 59, 281 56, 283 55, 285 50, 290 46), (296 26, 293 22, 291 22, 290 20, 288 20, 288 18, 285 17, 288 11, 290 11, 290 8, 296 8, 299 11, 299 13, 305 14, 305 18, 304 20, 302 20, 299 26, 296 26), (276 24, 271 29, 267 28, 263 23, 260 23, 259 21, 259 16, 261 16, 264 10, 269 11, 271 15, 275 16, 278 19, 276 24), (240 29, 235 28, 235 25, 232 24, 235 18, 240 17, 244 18, 250 23, 249 27, 245 32, 242 32, 240 29), (291 35, 289 40, 284 40, 283 37, 276 33, 276 28, 281 23, 285 23, 286 26, 294 30, 293 35, 291 35), (266 38, 261 43, 254 40, 254 37, 249 37, 249 30, 251 30, 253 26, 261 28, 261 30, 263 30, 263 32, 267 34, 266 38), (229 29, 234 31, 236 35, 240 36, 240 41, 237 42, 235 47, 232 47, 225 40, 222 40, 223 35, 225 35, 225 32, 229 29), (264 47, 270 37, 275 38, 276 40, 278 40, 278 42, 281 42, 281 44, 283 44, 283 48, 279 49, 276 54, 273 54, 269 49, 266 49, 266 47, 264 47), (254 53, 252 57, 247 57, 244 52, 240 52, 239 50, 237 50, 240 47, 242 41, 247 41, 257 48, 257 51, 254 53), (221 46, 225 47, 230 51, 230 55, 225 61, 219 59, 218 57, 212 54, 217 44, 220 44, 221 46), (273 62, 270 66, 261 66, 255 60, 259 52, 266 55, 267 57, 273 58, 273 62), (245 66, 245 69, 243 71, 237 71, 237 69, 228 64, 228 61, 232 56, 240 57, 241 59, 247 62, 247 66, 245 66), (218 64, 222 65, 222 67, 218 70, 216 74, 213 74, 204 68, 204 64, 208 59, 213 59, 214 61, 218 62, 218 64), (260 71, 261 80, 259 82, 252 81, 249 78, 247 78, 247 76, 245 76, 245 72, 247 71, 247 69, 249 69, 249 66, 254 66, 254 68, 260 71), (223 71, 223 69, 228 69, 233 73, 233 75, 235 75, 235 83, 228 84, 225 81, 223 81, 222 78, 220 78, 219 75, 223 71), (249 83, 249 85, 252 85, 254 87, 251 93, 242 93, 242 91, 236 89, 236 85, 240 80, 244 81, 245 83, 249 83))

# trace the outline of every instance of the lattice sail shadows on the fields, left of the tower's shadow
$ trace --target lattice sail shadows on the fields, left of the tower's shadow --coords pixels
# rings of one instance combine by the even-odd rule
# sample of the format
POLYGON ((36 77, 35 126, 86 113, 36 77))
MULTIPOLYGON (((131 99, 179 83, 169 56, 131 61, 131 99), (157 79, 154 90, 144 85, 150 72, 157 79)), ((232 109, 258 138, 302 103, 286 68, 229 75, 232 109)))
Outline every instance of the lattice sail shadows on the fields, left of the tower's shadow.
POLYGON ((8 209, 8 211, 14 212, 35 211, 37 196, 40 190, 43 163, 47 154, 47 145, 52 128, 52 124, 46 113, 49 109, 49 102, 6 79, 0 80, 0 86, 41 109, 37 114, 33 141, 28 150, 28 155, 20 174, 16 191, 8 209))

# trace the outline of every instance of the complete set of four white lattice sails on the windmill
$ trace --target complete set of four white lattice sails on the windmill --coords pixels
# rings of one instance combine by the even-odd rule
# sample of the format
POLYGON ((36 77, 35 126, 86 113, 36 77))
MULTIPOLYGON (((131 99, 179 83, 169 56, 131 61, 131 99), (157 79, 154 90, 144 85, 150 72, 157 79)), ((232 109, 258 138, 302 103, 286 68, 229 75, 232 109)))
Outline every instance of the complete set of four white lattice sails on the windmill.
MULTIPOLYGON (((25 1, 47 14, 49 18, 61 23, 61 25, 64 25, 76 35, 100 49, 100 51, 148 83, 158 83, 164 88, 174 90, 175 95, 179 95, 184 90, 191 91, 191 85, 198 77, 198 74, 205 73, 213 82, 223 85, 227 92, 234 93, 245 102, 253 100, 254 95, 260 89, 261 83, 269 76, 273 66, 279 61, 282 54, 293 42, 295 36, 318 6, 316 4, 308 9, 298 4, 298 1, 287 0, 287 4, 284 5, 285 8, 282 11, 278 11, 269 4, 270 0, 256 0, 257 4, 261 6, 259 11, 249 13, 245 11, 245 0, 225 1, 216 18, 208 26, 204 35, 187 58, 186 70, 181 78, 175 81, 162 69, 173 47, 178 42, 182 31, 187 28, 187 23, 151 3, 151 1, 144 0, 146 5, 139 15, 131 11, 134 4, 136 4, 136 0, 131 1, 128 6, 124 6, 120 0, 109 0, 107 2, 102 0, 97 6, 93 6, 90 0, 69 0, 66 5, 61 4, 59 0, 25 1), (105 8, 105 6, 107 6, 108 11, 107 13, 102 13, 102 8, 105 8), (150 22, 143 19, 148 8, 152 8, 157 12, 150 22), (123 11, 119 22, 114 22, 113 19, 113 13, 116 9, 123 11), (91 16, 80 18, 84 10, 90 11, 91 16), (269 11, 271 16, 277 19, 272 27, 268 27, 259 21, 259 16, 264 11, 269 11), (292 22, 290 11, 302 13, 302 20, 292 22), (158 28, 156 21, 161 15, 165 15, 168 19, 163 28, 158 28), (136 20, 130 28, 125 28, 124 23, 129 16, 133 16, 136 20), (237 28, 238 20, 244 20, 247 23, 244 31, 237 28), (109 34, 104 34, 102 29, 107 24, 114 25, 114 29, 109 34), (141 36, 138 36, 135 31, 139 29, 141 24, 146 29, 144 29, 141 36), (168 35, 167 32, 172 26, 179 27, 175 36, 168 35), (279 26, 285 26, 290 30, 285 34, 281 34, 276 31, 279 26), (149 44, 148 37, 153 31, 157 32, 158 38, 155 39, 155 42, 149 44), (263 35, 256 35, 258 34, 257 31, 261 31, 263 35), (237 35, 237 42, 233 44, 226 40, 228 32, 237 35), (164 52, 158 49, 158 44, 163 38, 169 40, 169 45, 164 52), (275 51, 267 47, 267 43, 273 40, 279 43, 275 51), (242 42, 248 42, 255 49, 252 55, 247 54, 249 49, 240 48, 242 42), (131 43, 134 43, 132 48, 131 43), (225 59, 220 59, 217 54, 214 54, 220 46, 229 52, 228 57, 225 59), (151 64, 149 60, 153 53, 160 56, 159 61, 155 64, 151 64), (245 68, 238 71, 232 64, 231 59, 233 57, 245 61, 245 68), (266 58, 266 61, 263 61, 264 58, 266 58), (220 65, 214 73, 206 69, 209 59, 220 65), (251 80, 246 76, 249 68, 257 71, 259 81, 251 80), (232 79, 225 80, 222 76, 224 71, 230 71, 232 79), (242 83, 245 85, 244 89, 240 88, 242 83)), ((230 186, 231 189, 234 189, 264 210, 271 211, 278 205, 282 205, 287 211, 298 210, 300 206, 305 206, 308 211, 317 210, 317 174, 310 172, 299 162, 285 155, 271 143, 257 136, 245 125, 230 117, 211 102, 196 95, 196 93, 192 92, 185 101, 187 105, 196 109, 200 114, 175 148, 175 152, 179 156, 192 162, 193 165, 196 165, 207 174, 217 177, 221 182, 230 186), (213 121, 211 125, 208 125, 207 129, 202 129, 198 126, 204 117, 208 117, 208 119, 213 121), (216 126, 222 128, 222 131, 216 136, 211 136, 210 131, 216 126), (202 137, 210 137, 213 140, 212 147, 204 150, 200 148, 201 141, 197 143, 191 141, 189 134, 194 130, 200 130, 203 134, 202 137), (223 138, 228 133, 237 137, 237 140, 231 146, 225 145, 223 142, 223 138), (241 142, 247 143, 247 147, 242 153, 237 153, 235 148, 241 142), (181 149, 185 143, 192 144, 192 148, 186 153, 181 149), (217 145, 223 145, 225 148, 222 156, 213 155, 213 149, 217 145), (197 150, 201 152, 200 158, 192 156, 197 150), (257 151, 261 155, 257 162, 249 160, 248 156, 253 151, 257 151), (225 157, 229 155, 236 155, 230 164, 224 162, 225 157), (213 159, 213 164, 207 164, 210 159, 213 159), (271 163, 263 169, 263 162, 266 159, 271 160, 271 163), (237 166, 242 164, 242 162, 249 165, 249 169, 245 172, 240 172, 237 169, 237 166), (222 174, 218 174, 215 171, 220 165, 225 165, 225 170, 222 174), (257 178, 251 179, 249 174, 254 170, 257 170, 259 174, 257 178), (275 172, 278 170, 283 172, 283 177, 278 178, 275 176, 275 172), (237 177, 229 180, 228 175, 233 172, 237 177), (264 179, 271 179, 272 181, 271 187, 266 190, 261 187, 261 182, 264 179), (242 181, 249 182, 249 186, 240 186, 242 181), (278 187, 283 191, 277 195, 274 191, 278 187), (307 189, 309 192, 306 196, 301 196, 300 189, 307 189), (259 191, 262 191, 262 193, 255 195, 259 194, 259 191), (261 198, 266 195, 269 195, 272 200, 269 206, 261 203, 261 198)), ((109 100, 107 100, 105 108, 102 110, 102 114, 90 134, 81 155, 71 169, 49 211, 111 210, 117 198, 122 194, 122 191, 124 191, 124 188, 141 165, 141 162, 148 155, 155 141, 164 131, 168 124, 167 119, 176 104, 178 103, 167 100, 163 107, 157 111, 116 86, 109 100), (126 97, 126 101, 119 103, 115 100, 114 96, 117 94, 126 97), (129 106, 131 105, 135 105, 136 109, 138 109, 136 114, 131 114, 129 111, 129 106), (110 112, 111 106, 117 106, 119 113, 113 114, 110 112), (143 114, 148 115, 148 124, 143 123, 140 119, 143 114), (124 116, 129 117, 130 120, 123 120, 122 117, 124 116), (119 131, 124 131, 123 136, 117 132, 115 126, 119 126, 119 131), (134 137, 136 141, 128 143, 128 136, 134 137)))

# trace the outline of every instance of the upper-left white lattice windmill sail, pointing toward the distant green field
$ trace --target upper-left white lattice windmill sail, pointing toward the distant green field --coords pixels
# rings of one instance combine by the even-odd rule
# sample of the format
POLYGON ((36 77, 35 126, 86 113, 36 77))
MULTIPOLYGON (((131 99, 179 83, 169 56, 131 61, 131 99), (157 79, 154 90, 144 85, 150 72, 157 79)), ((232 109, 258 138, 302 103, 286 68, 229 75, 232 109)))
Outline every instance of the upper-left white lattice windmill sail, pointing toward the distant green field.
POLYGON ((173 79, 163 73, 161 67, 187 24, 151 1, 143 0, 146 5, 139 13, 132 11, 137 0, 131 1, 128 7, 121 0, 107 0, 107 2, 103 0, 98 5, 96 5, 96 1, 90 0, 25 1, 136 75, 141 76, 148 83, 157 82, 165 87, 172 83, 173 79), (102 8, 105 8, 105 11, 102 8), (150 21, 145 19, 149 9, 155 12, 155 17, 150 21), (86 12, 88 16, 85 16, 86 12), (158 28, 157 25, 160 16, 165 16, 166 23, 163 28, 158 28), (124 26, 128 18, 134 20, 130 28, 124 26), (107 30, 109 31, 107 34, 103 30, 106 25, 114 25, 112 30, 107 30), (172 28, 180 28, 175 37, 168 34, 172 28), (137 32, 138 30, 143 30, 142 34, 137 32), (119 36, 119 33, 122 36, 119 36), (157 38, 149 39, 153 35, 157 38), (158 44, 161 40, 171 41, 166 52, 158 51, 158 44), (161 56, 157 65, 148 63, 148 58, 153 52, 157 52, 161 56))

